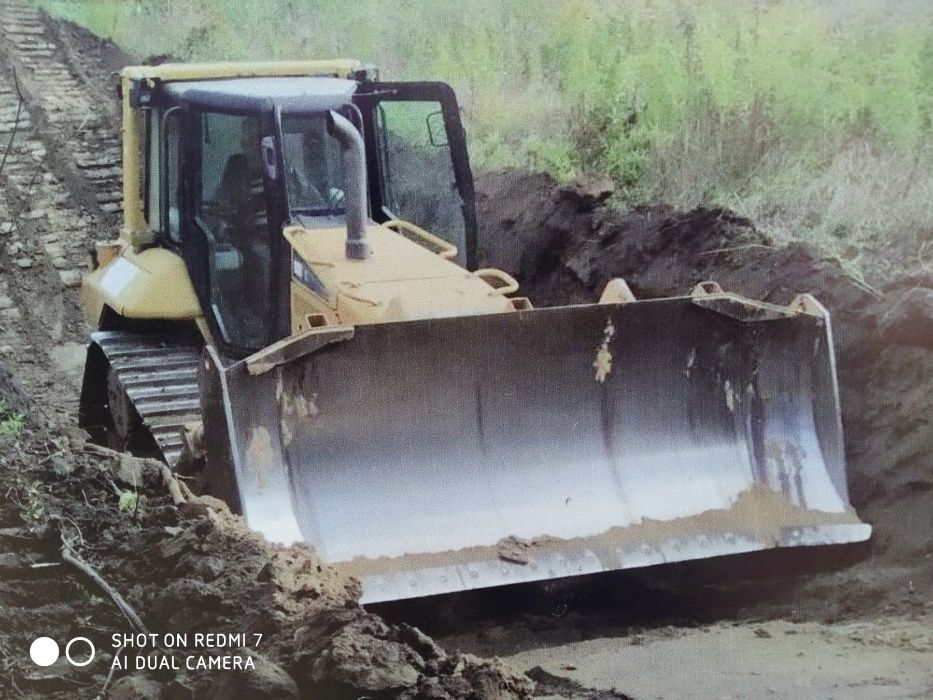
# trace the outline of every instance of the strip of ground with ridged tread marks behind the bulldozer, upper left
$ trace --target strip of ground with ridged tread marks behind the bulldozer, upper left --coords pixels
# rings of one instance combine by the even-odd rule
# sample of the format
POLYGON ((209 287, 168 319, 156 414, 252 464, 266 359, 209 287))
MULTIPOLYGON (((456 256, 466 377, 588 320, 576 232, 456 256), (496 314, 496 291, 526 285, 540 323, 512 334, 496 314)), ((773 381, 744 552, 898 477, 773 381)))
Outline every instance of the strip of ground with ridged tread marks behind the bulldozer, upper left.
POLYGON ((41 12, 0 2, 0 349, 65 425, 89 330, 77 288, 93 242, 116 231, 122 196, 116 105, 74 64, 41 12))

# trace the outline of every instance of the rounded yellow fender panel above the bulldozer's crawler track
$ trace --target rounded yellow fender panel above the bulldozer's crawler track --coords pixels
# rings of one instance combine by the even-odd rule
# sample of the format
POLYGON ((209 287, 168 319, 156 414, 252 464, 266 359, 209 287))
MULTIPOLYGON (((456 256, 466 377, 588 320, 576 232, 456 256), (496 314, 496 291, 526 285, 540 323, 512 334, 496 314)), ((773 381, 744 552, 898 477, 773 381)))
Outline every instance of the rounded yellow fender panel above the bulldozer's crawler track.
POLYGON ((126 246, 106 265, 85 275, 81 305, 91 326, 109 306, 127 318, 198 320, 201 305, 184 261, 164 248, 134 253, 126 246))

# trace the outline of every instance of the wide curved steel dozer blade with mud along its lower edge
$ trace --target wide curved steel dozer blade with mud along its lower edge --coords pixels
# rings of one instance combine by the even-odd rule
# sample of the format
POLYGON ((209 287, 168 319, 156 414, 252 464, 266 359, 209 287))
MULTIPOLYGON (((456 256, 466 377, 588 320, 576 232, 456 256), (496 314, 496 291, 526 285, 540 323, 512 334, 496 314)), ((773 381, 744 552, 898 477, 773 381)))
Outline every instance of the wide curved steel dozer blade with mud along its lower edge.
POLYGON ((869 537, 812 299, 327 333, 227 366, 206 351, 207 475, 363 602, 869 537))

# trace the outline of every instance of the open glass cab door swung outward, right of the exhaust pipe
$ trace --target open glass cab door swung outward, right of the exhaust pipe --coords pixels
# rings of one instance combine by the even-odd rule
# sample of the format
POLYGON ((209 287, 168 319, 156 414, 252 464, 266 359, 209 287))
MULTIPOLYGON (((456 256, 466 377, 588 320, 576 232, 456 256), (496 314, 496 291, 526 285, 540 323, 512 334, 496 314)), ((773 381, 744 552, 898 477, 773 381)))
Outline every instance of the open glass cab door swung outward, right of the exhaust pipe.
POLYGON ((439 82, 363 83, 369 195, 376 221, 404 219, 453 243, 476 267, 473 174, 457 98, 439 82))

